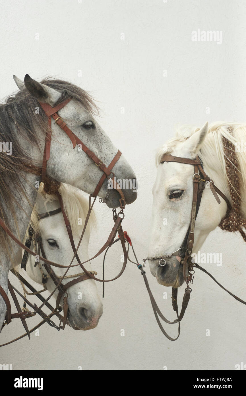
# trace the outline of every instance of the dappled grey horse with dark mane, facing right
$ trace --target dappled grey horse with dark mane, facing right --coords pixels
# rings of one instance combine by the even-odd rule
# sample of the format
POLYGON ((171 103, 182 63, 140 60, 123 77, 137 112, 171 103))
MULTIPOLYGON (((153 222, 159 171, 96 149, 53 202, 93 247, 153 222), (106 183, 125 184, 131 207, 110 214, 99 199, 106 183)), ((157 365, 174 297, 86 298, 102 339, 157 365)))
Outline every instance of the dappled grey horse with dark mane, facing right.
MULTIPOLYGON (((33 80, 28 74, 24 82, 14 77, 20 91, 0 105, 0 141, 11 144, 10 152, 0 153, 0 217, 10 230, 23 240, 36 201, 37 183, 40 176, 25 171, 23 162, 41 168, 44 156, 47 117, 40 102, 54 107, 57 103, 72 97, 72 100, 59 110, 59 116, 68 128, 108 166, 117 148, 93 117, 95 105, 83 89, 61 80, 46 79, 42 83, 33 80)), ((68 135, 51 120, 52 141, 50 158, 47 162, 47 176, 61 183, 73 185, 88 194, 93 193, 102 171, 85 152, 72 147, 68 135)), ((3 150, 4 151, 4 150, 3 150)), ((134 185, 135 174, 123 156, 113 167, 117 179, 133 183, 123 189, 127 204, 137 197, 134 185)), ((105 197, 107 180, 104 181, 98 196, 105 197)), ((110 208, 119 206, 119 194, 110 192, 106 204, 110 208)), ((0 227, 0 285, 8 294, 8 272, 13 265, 13 257, 18 246, 0 227)), ((0 295, 0 328, 4 321, 6 304, 0 295)))

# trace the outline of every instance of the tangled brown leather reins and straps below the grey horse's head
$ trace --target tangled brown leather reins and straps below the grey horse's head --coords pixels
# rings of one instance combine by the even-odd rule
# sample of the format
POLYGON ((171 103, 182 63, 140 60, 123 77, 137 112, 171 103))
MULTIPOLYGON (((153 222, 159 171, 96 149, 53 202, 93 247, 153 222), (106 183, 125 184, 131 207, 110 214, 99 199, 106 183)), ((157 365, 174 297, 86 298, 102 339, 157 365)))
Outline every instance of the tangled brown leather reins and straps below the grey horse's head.
MULTIPOLYGON (((122 227, 121 227, 121 222, 122 222, 122 220, 123 220, 123 218, 124 218, 123 209, 121 209, 121 211, 119 211, 118 214, 116 213, 116 209, 113 209, 114 227, 112 228, 112 231, 110 232, 110 235, 109 235, 109 237, 108 237, 108 240, 105 242, 104 246, 102 246, 102 248, 97 252, 97 254, 94 255, 94 256, 93 256, 92 258, 90 258, 89 260, 86 260, 86 261, 84 261, 83 263, 81 263, 80 260, 79 260, 79 257, 78 257, 77 252, 78 252, 78 249, 79 249, 79 245, 80 245, 80 243, 81 243, 81 240, 82 240, 82 238, 83 238, 83 235, 84 235, 84 232, 85 232, 85 228, 86 228, 87 223, 88 223, 88 221, 89 221, 89 216, 90 216, 90 214, 91 214, 91 211, 92 211, 93 205, 94 205, 94 203, 95 203, 95 200, 96 200, 96 197, 94 198, 93 203, 91 204, 91 196, 89 197, 89 209, 88 209, 88 213, 87 213, 87 216, 86 216, 86 219, 85 219, 85 224, 84 224, 84 227, 83 227, 83 231, 82 231, 82 233, 81 233, 81 237, 80 237, 80 240, 79 240, 79 244, 78 244, 78 246, 77 246, 76 249, 75 249, 74 242, 73 242, 73 239, 72 239, 72 234, 70 235, 70 224, 68 224, 68 223, 65 222, 65 223, 66 223, 67 230, 68 230, 68 235, 69 235, 69 237, 70 237, 71 246, 72 246, 72 248, 73 248, 73 250, 74 250, 74 256, 73 256, 73 258, 72 258, 72 261, 70 262, 70 265, 68 265, 68 266, 62 266, 62 265, 59 265, 58 263, 53 263, 53 262, 47 260, 46 257, 42 257, 42 256, 39 257, 40 261, 44 261, 44 264, 43 264, 43 265, 44 265, 45 268, 48 270, 48 273, 50 273, 50 275, 51 275, 51 271, 49 271, 50 266, 59 267, 59 268, 66 268, 66 271, 64 272, 64 275, 63 275, 61 278, 59 278, 59 279, 57 279, 57 277, 56 277, 55 274, 54 274, 54 271, 52 271, 52 272, 53 272, 53 275, 54 275, 54 276, 52 276, 52 279, 53 279, 53 281, 54 281, 56 287, 55 287, 55 289, 53 290, 53 292, 49 295, 49 297, 47 297, 47 299, 44 299, 42 296, 40 296, 40 295, 38 294, 38 292, 37 292, 30 284, 28 284, 28 282, 26 282, 24 278, 22 278, 22 277, 18 274, 18 278, 21 280, 21 282, 23 282, 27 287, 29 287, 29 289, 30 289, 31 291, 33 291, 33 292, 37 295, 37 297, 38 297, 39 299, 41 299, 42 304, 41 304, 39 307, 38 307, 37 305, 32 305, 32 303, 30 303, 30 301, 28 301, 28 300, 26 299, 25 296, 21 295, 21 293, 19 293, 19 291, 18 291, 17 289, 15 289, 14 287, 12 287, 11 284, 9 283, 9 291, 10 291, 10 293, 11 293, 11 296, 13 297, 13 300, 14 300, 15 305, 16 305, 17 310, 18 310, 17 314, 11 313, 11 305, 10 305, 10 302, 9 302, 8 295, 5 293, 4 289, 2 289, 2 287, 0 287, 0 294, 2 295, 2 297, 3 297, 3 299, 4 299, 5 303, 6 303, 6 307, 7 307, 7 311, 6 311, 6 323, 5 323, 5 324, 10 323, 12 318, 21 318, 22 323, 23 323, 23 326, 25 327, 25 330, 26 330, 26 333, 25 333, 25 334, 23 334, 23 335, 20 336, 20 337, 17 337, 15 340, 10 341, 9 343, 14 342, 14 341, 17 341, 18 339, 23 338, 23 337, 25 337, 26 335, 28 335, 28 337, 30 338, 30 333, 31 333, 32 331, 34 331, 35 329, 37 329, 38 327, 42 326, 42 324, 44 324, 45 322, 47 322, 47 323, 50 324, 51 326, 57 328, 58 330, 61 329, 61 328, 64 329, 64 327, 65 327, 65 325, 66 325, 67 311, 68 311, 68 305, 67 305, 67 301, 66 301, 66 297, 67 297, 67 292, 66 292, 66 290, 68 289, 68 287, 72 286, 72 285, 75 284, 75 283, 81 282, 81 281, 86 280, 86 279, 89 279, 89 278, 93 278, 94 280, 97 280, 98 282, 112 282, 113 280, 119 278, 119 276, 121 276, 121 274, 124 272, 125 267, 126 267, 126 265, 127 265, 127 251, 126 251, 126 247, 125 247, 124 234, 123 234, 123 230, 122 230, 122 227), (91 272, 90 272, 90 271, 87 271, 87 270, 85 269, 85 267, 83 267, 83 264, 85 264, 85 263, 87 263, 88 261, 90 261, 90 260, 92 260, 92 259, 98 257, 104 250, 106 250, 108 247, 112 246, 112 244, 114 243, 114 238, 115 238, 117 232, 119 232, 119 236, 120 236, 119 239, 121 240, 121 246, 122 246, 123 254, 124 254, 124 262, 123 262, 123 266, 122 266, 122 268, 121 268, 121 271, 119 272, 119 274, 118 274, 117 276, 115 276, 114 278, 109 279, 109 280, 102 280, 102 279, 96 278, 96 277, 95 277, 95 274, 94 274, 92 271, 91 271, 91 272), (77 260, 78 260, 78 264, 72 265, 73 260, 74 260, 75 257, 76 257, 77 260), (79 276, 79 278, 76 278, 76 279, 74 279, 74 280, 68 282, 66 285, 63 285, 63 284, 62 284, 62 280, 65 278, 66 273, 68 272, 69 268, 70 268, 70 267, 76 267, 76 266, 78 266, 78 265, 79 265, 81 268, 83 268, 84 274, 83 274, 82 276, 79 276), (56 291, 57 289, 59 290, 59 293, 58 293, 58 297, 57 297, 56 307, 53 308, 53 307, 48 303, 48 300, 51 298, 51 296, 55 293, 55 291, 56 291), (18 301, 17 301, 17 298, 16 298, 15 293, 14 293, 13 290, 15 290, 15 291, 23 298, 23 300, 24 300, 26 303, 28 303, 28 305, 30 305, 30 307, 34 310, 33 312, 29 312, 29 311, 27 311, 27 312, 21 312, 21 308, 20 308, 20 306, 19 306, 19 303, 18 303, 18 301), (59 312, 62 310, 62 308, 59 306, 59 302, 60 302, 60 299, 61 299, 61 297, 62 297, 63 294, 66 294, 66 296, 64 296, 64 299, 63 299, 63 310, 64 310, 64 315, 61 316, 61 315, 59 314, 59 312), (51 314, 46 315, 46 314, 42 311, 41 308, 42 308, 44 305, 47 306, 47 307, 51 310, 51 314), (40 322, 40 324, 38 324, 38 325, 35 326, 32 330, 29 331, 29 330, 28 330, 28 327, 26 326, 25 318, 26 318, 26 317, 29 317, 29 316, 33 316, 33 315, 35 315, 35 314, 39 314, 40 316, 42 316, 43 321, 40 322), (56 326, 56 325, 54 324, 53 321, 51 321, 50 318, 51 318, 53 315, 56 315, 56 316, 59 317, 59 319, 60 319, 60 326, 59 326, 59 327, 56 326), (62 326, 61 326, 61 323, 62 323, 62 326)), ((62 209, 62 212, 63 212, 63 206, 61 207, 61 209, 62 209)), ((8 234, 8 235, 20 246, 20 247, 22 247, 23 249, 25 249, 25 251, 27 251, 29 254, 31 254, 31 255, 33 255, 33 256, 36 256, 36 253, 35 253, 35 252, 33 252, 32 250, 30 250, 29 247, 27 247, 26 245, 24 245, 21 241, 19 241, 19 240, 13 235, 13 233, 9 230, 9 228, 6 226, 6 224, 4 223, 4 221, 3 221, 1 218, 0 218, 0 226, 2 226, 2 228, 4 228, 5 232, 6 232, 6 233, 7 233, 7 234, 8 234)), ((39 246, 40 246, 40 249, 41 249, 41 252, 42 252, 42 248, 41 248, 42 244, 39 245, 39 246)), ((44 253, 44 251, 43 251, 43 253, 44 253)), ((45 256, 45 254, 44 254, 44 256, 45 256)), ((9 344, 9 343, 7 343, 7 344, 9 344)), ((4 344, 4 345, 7 345, 7 344, 4 344)), ((3 345, 0 345, 0 346, 3 346, 3 345)))

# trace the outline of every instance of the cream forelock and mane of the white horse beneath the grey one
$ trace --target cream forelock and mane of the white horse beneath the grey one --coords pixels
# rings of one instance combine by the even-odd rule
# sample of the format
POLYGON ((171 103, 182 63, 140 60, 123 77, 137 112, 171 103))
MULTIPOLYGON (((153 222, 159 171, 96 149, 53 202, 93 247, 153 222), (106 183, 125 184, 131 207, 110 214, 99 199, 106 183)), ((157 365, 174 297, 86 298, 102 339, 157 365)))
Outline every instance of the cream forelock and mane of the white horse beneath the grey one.
MULTIPOLYGON (((70 221, 72 233, 73 233, 73 235, 80 236, 82 229, 83 229, 83 225, 85 223, 87 211, 88 211, 88 205, 89 205, 88 200, 87 200, 87 198, 85 198, 85 196, 81 190, 79 190, 76 187, 65 184, 65 183, 61 183, 61 186, 59 187, 58 191, 61 194, 64 211, 70 221), (79 218, 82 221, 82 225, 78 224, 79 218)), ((48 209, 47 209, 48 202, 52 203, 54 201, 55 202, 58 201, 57 195, 55 195, 55 194, 50 195, 50 194, 46 194, 44 192, 44 184, 43 183, 40 184, 40 187, 38 189, 38 194, 40 194, 44 200, 44 207, 45 207, 46 211, 48 211, 48 209)), ((29 226, 31 226, 34 229, 34 232, 40 231, 39 217, 38 217, 38 213, 36 210, 36 206, 34 206, 34 209, 32 211, 32 215, 31 215, 30 221, 29 221, 29 226)), ((28 226, 28 228, 29 228, 29 226, 28 226)), ((93 229, 95 229, 96 226, 97 226, 97 220, 96 220, 95 212, 94 212, 94 210, 92 210, 91 215, 89 217, 87 227, 85 229, 85 234, 87 234, 87 236, 89 237, 91 231, 93 229)), ((26 230, 25 238, 27 236, 28 236, 28 229, 26 230)))

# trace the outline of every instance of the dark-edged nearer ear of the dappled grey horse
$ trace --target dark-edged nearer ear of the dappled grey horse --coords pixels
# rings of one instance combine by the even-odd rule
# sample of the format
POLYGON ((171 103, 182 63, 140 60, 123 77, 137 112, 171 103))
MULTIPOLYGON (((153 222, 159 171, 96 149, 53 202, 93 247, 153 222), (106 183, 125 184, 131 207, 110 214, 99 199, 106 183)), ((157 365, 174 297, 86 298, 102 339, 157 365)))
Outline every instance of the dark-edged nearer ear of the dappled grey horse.
POLYGON ((56 91, 47 85, 40 84, 40 82, 33 80, 29 74, 25 75, 24 83, 26 89, 32 96, 38 99, 40 102, 49 103, 54 105, 61 96, 61 92, 56 91))

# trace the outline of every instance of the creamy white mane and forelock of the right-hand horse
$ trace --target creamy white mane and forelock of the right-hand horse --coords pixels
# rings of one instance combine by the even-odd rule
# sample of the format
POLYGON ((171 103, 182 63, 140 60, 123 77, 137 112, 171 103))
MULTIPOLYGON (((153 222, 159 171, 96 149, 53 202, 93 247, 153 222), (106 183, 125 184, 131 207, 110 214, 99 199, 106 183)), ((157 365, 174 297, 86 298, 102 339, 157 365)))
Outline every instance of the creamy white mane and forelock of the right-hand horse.
MULTIPOLYGON (((168 140, 165 145, 157 151, 156 166, 159 166, 159 162, 163 154, 170 154, 173 151, 175 152, 175 148, 180 141, 185 141, 185 138, 193 135, 195 132, 199 131, 199 129, 201 129, 201 127, 191 125, 177 126, 176 136, 168 140)), ((225 191, 225 194, 230 199, 229 186, 232 185, 226 172, 223 137, 228 139, 235 148, 240 147, 241 142, 246 142, 246 124, 239 122, 214 122, 213 124, 210 124, 208 126, 208 134, 206 135, 204 144, 199 152, 199 157, 201 158, 204 166, 218 171, 217 168, 213 168, 214 154, 216 153, 217 160, 222 164, 222 173, 220 174, 220 177, 223 178, 223 180, 227 180, 227 190, 225 191)), ((230 161, 232 168, 231 172, 238 172, 241 190, 241 196, 238 196, 238 198, 241 200, 241 211, 244 213, 244 216, 246 216, 246 154, 244 150, 235 151, 237 152, 238 168, 236 168, 230 161)), ((233 189, 235 190, 234 187, 233 189)))

